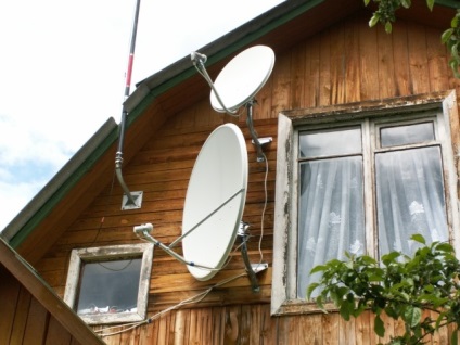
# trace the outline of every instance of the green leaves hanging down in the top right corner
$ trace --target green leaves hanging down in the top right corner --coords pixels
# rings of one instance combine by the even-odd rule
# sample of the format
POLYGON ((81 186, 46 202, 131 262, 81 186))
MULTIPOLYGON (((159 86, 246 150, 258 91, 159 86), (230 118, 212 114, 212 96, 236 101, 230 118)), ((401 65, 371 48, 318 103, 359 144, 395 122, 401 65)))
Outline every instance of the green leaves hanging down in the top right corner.
MULTIPOLYGON (((371 0, 363 0, 365 5, 368 5, 371 0)), ((411 0, 372 0, 376 3, 378 9, 373 12, 372 17, 369 21, 369 26, 373 27, 378 23, 381 23, 385 27, 385 31, 391 34, 393 30, 393 23, 396 22, 396 10, 400 8, 409 9, 411 7, 411 0)), ((435 0, 426 0, 426 5, 430 11, 433 11, 435 0)), ((443 44, 447 47, 450 52, 449 65, 456 78, 460 78, 460 55, 459 55, 459 43, 460 43, 460 9, 457 10, 456 15, 450 21, 450 28, 446 29, 440 40, 443 44)))

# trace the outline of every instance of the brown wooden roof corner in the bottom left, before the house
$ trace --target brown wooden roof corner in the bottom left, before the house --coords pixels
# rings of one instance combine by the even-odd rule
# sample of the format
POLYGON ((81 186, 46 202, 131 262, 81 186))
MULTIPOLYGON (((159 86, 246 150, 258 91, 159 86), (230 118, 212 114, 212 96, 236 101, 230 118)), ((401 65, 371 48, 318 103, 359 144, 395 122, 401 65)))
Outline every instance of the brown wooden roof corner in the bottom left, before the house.
POLYGON ((102 344, 0 239, 0 344, 102 344))

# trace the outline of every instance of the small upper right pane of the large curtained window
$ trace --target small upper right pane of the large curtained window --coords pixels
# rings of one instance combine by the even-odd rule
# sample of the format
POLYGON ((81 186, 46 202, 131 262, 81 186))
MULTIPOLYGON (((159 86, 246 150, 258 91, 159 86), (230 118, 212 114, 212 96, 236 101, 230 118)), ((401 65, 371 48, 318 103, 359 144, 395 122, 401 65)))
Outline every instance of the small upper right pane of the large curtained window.
POLYGON ((433 123, 386 127, 380 130, 382 148, 414 144, 434 139, 433 123))

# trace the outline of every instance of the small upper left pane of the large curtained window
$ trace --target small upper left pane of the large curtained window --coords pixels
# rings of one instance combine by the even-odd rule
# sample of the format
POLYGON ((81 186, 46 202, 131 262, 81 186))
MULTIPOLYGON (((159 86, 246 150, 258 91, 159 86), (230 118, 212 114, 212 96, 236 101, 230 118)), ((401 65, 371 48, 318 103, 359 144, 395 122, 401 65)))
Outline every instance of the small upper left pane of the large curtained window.
POLYGON ((303 132, 299 138, 301 157, 324 157, 361 153, 359 128, 303 132))

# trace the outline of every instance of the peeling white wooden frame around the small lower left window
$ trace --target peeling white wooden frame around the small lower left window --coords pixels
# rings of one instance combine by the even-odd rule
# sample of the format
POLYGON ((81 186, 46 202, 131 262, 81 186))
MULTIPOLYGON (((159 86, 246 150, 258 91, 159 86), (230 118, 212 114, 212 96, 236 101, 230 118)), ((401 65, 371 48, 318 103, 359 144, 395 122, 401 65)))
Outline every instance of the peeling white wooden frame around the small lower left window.
POLYGON ((79 293, 78 286, 80 271, 84 264, 106 261, 107 259, 117 260, 130 257, 141 257, 142 263, 139 277, 137 311, 123 314, 77 315, 88 324, 110 324, 145 320, 149 302, 153 247, 154 246, 151 243, 140 243, 73 250, 68 265, 64 302, 75 310, 75 304, 79 293))

